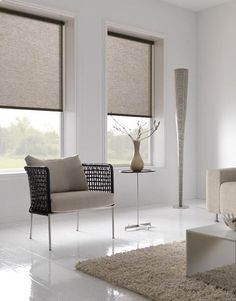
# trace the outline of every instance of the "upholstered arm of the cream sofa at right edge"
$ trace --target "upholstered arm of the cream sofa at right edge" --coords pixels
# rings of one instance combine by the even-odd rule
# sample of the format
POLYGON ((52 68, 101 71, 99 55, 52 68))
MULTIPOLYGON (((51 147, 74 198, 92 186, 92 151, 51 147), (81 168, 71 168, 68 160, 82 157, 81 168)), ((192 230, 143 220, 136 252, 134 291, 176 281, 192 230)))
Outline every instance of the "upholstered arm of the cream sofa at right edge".
POLYGON ((220 185, 224 182, 236 182, 236 168, 207 171, 206 204, 208 211, 220 213, 220 185))

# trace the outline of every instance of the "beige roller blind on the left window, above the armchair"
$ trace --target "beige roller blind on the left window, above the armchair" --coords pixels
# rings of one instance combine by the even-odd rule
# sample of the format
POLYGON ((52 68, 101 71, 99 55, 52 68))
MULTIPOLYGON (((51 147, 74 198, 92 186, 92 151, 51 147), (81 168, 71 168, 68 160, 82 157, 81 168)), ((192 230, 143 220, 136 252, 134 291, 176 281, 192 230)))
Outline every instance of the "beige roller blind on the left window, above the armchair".
POLYGON ((0 107, 62 111, 62 30, 0 9, 0 107))

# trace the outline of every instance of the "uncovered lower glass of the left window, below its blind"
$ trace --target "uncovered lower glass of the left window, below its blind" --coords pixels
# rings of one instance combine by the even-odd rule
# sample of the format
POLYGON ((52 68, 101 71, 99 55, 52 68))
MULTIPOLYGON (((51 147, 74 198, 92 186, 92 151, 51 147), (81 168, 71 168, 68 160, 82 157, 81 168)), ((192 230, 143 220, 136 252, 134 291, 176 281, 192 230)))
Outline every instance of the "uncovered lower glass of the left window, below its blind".
POLYGON ((61 113, 0 109, 0 168, 22 168, 27 154, 50 158, 61 154, 61 113))

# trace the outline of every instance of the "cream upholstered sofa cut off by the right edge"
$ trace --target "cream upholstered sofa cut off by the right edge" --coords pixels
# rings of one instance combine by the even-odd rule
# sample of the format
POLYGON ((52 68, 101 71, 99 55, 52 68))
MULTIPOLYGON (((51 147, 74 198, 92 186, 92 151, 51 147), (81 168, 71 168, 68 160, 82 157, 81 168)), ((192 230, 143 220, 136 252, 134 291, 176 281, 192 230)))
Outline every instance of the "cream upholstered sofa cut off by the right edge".
POLYGON ((236 213, 236 168, 207 171, 206 203, 209 212, 236 213))

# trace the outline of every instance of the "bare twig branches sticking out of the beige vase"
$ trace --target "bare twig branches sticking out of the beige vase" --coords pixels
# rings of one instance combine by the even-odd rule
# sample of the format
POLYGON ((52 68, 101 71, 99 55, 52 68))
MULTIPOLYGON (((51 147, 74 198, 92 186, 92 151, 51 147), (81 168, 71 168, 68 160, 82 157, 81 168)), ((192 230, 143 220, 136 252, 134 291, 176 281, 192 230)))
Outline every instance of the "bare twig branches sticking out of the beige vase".
POLYGON ((127 129, 125 127, 125 125, 119 123, 113 116, 111 116, 112 119, 115 121, 116 125, 114 126, 114 129, 122 134, 126 134, 132 141, 142 141, 144 139, 147 139, 149 137, 151 137, 156 130, 158 129, 159 125, 160 125, 160 121, 153 121, 152 126, 150 127, 150 129, 144 129, 144 127, 147 125, 146 122, 137 122, 137 134, 136 136, 134 136, 134 134, 132 134, 131 129, 127 129))

